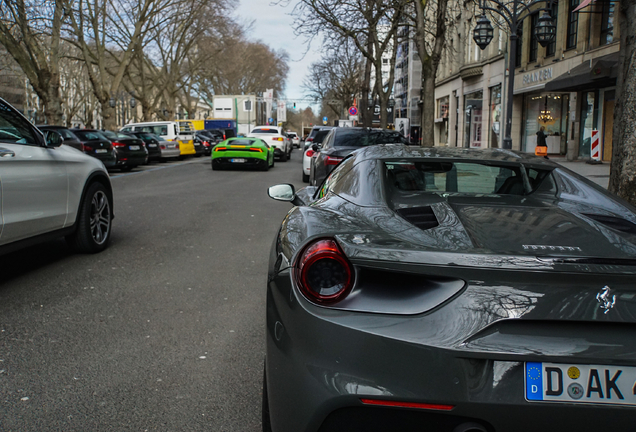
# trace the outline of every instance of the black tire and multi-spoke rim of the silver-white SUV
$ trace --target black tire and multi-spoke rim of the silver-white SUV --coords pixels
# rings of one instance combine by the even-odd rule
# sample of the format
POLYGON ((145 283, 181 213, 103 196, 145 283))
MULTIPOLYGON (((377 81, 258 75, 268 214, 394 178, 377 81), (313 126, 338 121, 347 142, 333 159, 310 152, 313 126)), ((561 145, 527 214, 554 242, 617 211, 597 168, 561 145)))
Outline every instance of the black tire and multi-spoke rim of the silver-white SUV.
POLYGON ((113 204, 106 187, 95 182, 88 187, 77 214, 77 229, 66 237, 69 246, 80 253, 101 252, 108 246, 113 204))

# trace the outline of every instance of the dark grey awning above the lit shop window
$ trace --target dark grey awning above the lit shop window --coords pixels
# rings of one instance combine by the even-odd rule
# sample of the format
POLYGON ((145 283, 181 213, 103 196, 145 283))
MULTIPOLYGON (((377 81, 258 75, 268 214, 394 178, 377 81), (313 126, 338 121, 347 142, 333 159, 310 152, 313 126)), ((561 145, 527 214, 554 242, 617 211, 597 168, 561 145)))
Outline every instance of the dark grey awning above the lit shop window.
MULTIPOLYGON (((592 1, 592 0, 590 0, 592 1)), ((545 91, 584 91, 616 85, 618 53, 586 61, 546 83, 545 91)))

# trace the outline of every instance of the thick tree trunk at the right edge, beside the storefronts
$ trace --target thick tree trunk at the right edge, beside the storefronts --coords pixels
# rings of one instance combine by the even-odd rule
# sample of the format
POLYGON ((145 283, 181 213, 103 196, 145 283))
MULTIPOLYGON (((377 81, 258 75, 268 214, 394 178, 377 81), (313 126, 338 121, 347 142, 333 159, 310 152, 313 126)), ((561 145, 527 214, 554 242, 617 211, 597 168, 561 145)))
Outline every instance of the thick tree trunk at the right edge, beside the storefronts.
POLYGON ((621 0, 610 192, 636 205, 636 0, 621 0))

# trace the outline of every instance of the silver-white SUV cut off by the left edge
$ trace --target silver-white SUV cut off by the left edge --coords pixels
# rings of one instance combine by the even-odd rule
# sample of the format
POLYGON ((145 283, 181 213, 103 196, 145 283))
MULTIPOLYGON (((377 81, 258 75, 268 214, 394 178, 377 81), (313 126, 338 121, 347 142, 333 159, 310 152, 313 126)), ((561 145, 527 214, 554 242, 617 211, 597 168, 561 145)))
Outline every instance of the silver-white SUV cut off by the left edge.
POLYGON ((104 165, 62 145, 0 99, 0 253, 57 237, 95 253, 110 240, 113 193, 104 165))

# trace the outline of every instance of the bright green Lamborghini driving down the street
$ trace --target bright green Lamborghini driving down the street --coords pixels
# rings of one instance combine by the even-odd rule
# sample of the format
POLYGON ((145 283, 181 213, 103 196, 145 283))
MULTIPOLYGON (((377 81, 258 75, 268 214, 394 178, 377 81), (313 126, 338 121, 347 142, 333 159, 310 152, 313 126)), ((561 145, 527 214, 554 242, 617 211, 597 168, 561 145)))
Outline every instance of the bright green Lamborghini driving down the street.
POLYGON ((267 171, 273 166, 274 146, 259 138, 228 138, 212 151, 213 170, 246 167, 267 171))

